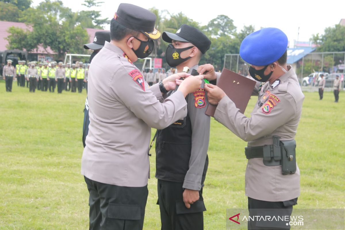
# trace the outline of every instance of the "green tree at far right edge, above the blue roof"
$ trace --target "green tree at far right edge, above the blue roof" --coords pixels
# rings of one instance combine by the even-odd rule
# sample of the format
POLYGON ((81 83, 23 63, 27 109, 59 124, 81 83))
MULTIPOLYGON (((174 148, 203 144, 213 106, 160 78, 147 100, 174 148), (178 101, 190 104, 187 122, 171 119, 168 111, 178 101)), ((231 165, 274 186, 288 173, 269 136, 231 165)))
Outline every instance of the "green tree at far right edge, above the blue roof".
POLYGON ((345 51, 345 26, 339 24, 327 27, 323 35, 313 34, 310 39, 319 45, 318 52, 343 52, 345 51))

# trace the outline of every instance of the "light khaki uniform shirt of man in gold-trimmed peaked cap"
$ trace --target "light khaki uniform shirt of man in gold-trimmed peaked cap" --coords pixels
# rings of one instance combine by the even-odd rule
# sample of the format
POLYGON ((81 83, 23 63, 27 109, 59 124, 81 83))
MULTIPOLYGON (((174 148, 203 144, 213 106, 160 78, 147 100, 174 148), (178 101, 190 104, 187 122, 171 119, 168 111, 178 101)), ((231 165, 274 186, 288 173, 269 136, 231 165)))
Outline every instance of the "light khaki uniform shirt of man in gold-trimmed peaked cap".
POLYGON ((143 187, 149 178, 151 127, 163 129, 186 117, 187 103, 180 91, 164 100, 158 84, 149 88, 126 57, 106 42, 92 59, 81 174, 101 183, 143 187))

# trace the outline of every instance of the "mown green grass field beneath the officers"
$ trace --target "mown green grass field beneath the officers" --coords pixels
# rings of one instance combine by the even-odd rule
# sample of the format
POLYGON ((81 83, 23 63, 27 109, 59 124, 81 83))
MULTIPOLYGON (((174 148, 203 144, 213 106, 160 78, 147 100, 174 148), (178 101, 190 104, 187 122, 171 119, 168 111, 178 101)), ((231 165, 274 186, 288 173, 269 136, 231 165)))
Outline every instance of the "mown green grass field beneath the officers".
MULTIPOLYGON (((0 82, 0 229, 88 229, 88 191, 80 174, 86 91, 29 93, 0 82)), ((345 207, 345 94, 305 93, 297 141, 301 195, 296 208, 345 207)), ((247 116, 256 98, 252 97, 247 116)), ((269 126, 269 124, 267 124, 269 126)), ((152 131, 152 136, 154 132, 152 131)), ((211 119, 205 229, 225 229, 227 208, 246 208, 242 141, 211 119)), ((154 148, 152 148, 154 150, 154 148)), ((155 154, 144 229, 160 229, 155 154)))

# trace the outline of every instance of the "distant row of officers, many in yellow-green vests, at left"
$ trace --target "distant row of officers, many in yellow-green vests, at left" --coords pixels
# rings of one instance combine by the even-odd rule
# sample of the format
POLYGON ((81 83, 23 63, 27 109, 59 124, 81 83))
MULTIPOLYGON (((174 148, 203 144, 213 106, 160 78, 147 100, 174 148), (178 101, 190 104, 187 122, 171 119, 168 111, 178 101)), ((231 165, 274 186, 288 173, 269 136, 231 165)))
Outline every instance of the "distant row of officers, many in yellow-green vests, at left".
POLYGON ((3 79, 6 81, 6 91, 12 91, 12 82, 17 79, 17 85, 29 88, 30 92, 37 90, 55 92, 57 86, 58 93, 62 90, 81 93, 83 88, 87 91, 87 79, 90 64, 76 62, 76 64, 63 64, 52 61, 37 63, 31 61, 26 65, 26 61, 20 60, 16 67, 12 66, 12 60, 7 60, 7 65, 2 71, 3 79))

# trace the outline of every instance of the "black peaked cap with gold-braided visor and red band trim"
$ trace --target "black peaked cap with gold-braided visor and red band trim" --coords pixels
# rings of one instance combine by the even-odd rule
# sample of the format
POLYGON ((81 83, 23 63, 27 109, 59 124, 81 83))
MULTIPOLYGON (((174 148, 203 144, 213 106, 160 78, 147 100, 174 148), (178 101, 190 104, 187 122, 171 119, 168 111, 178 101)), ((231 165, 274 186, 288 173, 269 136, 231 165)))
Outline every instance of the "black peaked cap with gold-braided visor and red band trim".
POLYGON ((121 3, 114 14, 114 19, 122 26, 141 31, 152 40, 160 38, 160 32, 155 29, 156 18, 151 11, 129 3, 121 3))

